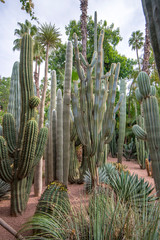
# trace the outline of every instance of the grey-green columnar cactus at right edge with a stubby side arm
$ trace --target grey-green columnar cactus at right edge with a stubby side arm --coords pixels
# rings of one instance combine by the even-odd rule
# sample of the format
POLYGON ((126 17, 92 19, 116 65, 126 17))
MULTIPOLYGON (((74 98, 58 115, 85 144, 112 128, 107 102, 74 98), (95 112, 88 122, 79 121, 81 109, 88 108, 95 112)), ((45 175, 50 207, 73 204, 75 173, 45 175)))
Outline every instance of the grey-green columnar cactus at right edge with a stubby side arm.
POLYGON ((143 105, 145 121, 144 131, 139 125, 133 126, 136 137, 147 140, 150 157, 152 161, 153 178, 155 181, 158 196, 160 196, 160 119, 157 98, 155 97, 155 87, 150 86, 150 79, 145 72, 141 72, 137 78, 138 99, 143 105))

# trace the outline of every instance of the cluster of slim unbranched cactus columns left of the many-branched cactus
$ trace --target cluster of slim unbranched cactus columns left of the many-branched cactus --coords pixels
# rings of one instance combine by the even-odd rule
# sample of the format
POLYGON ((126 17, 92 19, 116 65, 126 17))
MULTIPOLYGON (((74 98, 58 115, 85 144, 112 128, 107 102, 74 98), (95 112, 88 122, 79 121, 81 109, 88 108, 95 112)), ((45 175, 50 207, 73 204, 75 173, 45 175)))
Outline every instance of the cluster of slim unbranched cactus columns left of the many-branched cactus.
POLYGON ((46 153, 46 184, 53 180, 68 184, 70 162, 70 99, 72 76, 72 43, 66 49, 64 91, 58 89, 56 104, 56 75, 52 76, 48 153, 46 153))

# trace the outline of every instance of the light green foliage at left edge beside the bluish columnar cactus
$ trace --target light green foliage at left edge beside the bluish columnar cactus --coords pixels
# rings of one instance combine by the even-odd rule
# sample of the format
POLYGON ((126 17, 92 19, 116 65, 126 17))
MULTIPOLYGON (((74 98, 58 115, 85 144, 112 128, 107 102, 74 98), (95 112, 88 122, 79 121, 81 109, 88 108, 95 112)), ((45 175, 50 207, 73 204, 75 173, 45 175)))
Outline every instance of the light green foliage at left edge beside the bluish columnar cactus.
POLYGON ((2 118, 7 112, 7 105, 9 101, 9 88, 10 88, 10 78, 0 78, 0 124, 2 124, 2 118))

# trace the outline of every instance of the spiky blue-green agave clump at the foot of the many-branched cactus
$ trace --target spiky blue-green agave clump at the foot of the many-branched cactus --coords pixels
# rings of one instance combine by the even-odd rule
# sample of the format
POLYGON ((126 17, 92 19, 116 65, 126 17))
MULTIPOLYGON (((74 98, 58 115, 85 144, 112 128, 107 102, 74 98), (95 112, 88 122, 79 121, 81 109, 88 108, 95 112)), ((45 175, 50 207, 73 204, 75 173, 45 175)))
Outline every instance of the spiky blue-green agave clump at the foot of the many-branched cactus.
MULTIPOLYGON (((92 189, 90 172, 85 175, 85 188, 89 192, 92 189)), ((99 168, 99 184, 109 185, 121 201, 129 204, 138 204, 151 202, 157 199, 153 193, 154 187, 145 182, 138 175, 130 175, 127 171, 118 171, 111 163, 99 168)))

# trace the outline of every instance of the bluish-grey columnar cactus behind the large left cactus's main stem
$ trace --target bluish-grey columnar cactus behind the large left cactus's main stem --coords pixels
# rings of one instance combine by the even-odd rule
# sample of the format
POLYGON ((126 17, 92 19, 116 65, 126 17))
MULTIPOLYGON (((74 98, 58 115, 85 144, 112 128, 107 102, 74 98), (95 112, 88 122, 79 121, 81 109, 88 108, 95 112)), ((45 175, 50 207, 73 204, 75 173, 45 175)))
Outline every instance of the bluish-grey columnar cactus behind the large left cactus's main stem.
POLYGON ((15 62, 11 75, 11 86, 7 112, 11 113, 15 119, 16 133, 18 134, 20 126, 21 113, 21 88, 19 80, 19 62, 15 62))

